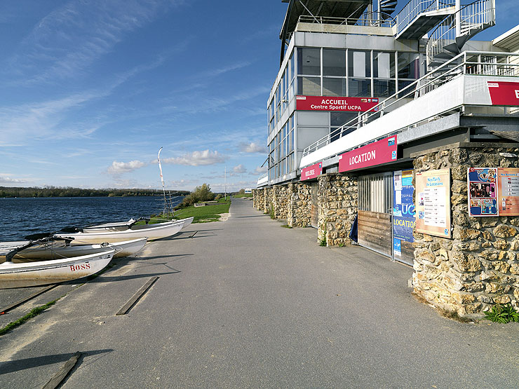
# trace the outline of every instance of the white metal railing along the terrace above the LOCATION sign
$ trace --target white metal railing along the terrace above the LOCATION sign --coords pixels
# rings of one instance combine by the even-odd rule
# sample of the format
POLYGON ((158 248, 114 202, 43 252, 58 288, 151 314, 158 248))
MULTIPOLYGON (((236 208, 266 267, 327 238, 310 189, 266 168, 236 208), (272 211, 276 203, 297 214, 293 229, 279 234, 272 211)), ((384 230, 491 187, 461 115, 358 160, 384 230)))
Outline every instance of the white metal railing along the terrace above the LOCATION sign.
MULTIPOLYGON (((452 58, 452 60, 445 62, 445 64, 440 67, 430 71, 420 79, 417 79, 409 86, 398 90, 397 93, 373 107, 372 111, 359 112, 356 118, 353 118, 351 121, 330 132, 330 134, 306 147, 303 150, 303 156, 307 156, 309 153, 313 153, 323 146, 330 144, 330 142, 335 142, 335 140, 340 139, 344 135, 358 130, 375 119, 382 117, 390 107, 396 109, 405 103, 406 99, 416 99, 417 97, 426 95, 461 74, 519 77, 519 54, 465 51, 452 58), (511 63, 511 58, 514 59, 514 62, 518 63, 511 63)), ((375 140, 376 139, 372 139, 372 141, 375 140)))

